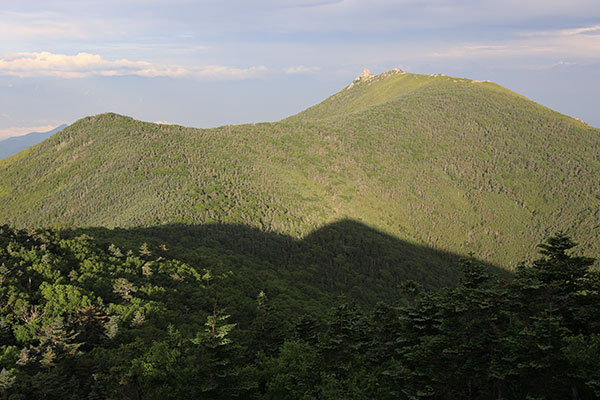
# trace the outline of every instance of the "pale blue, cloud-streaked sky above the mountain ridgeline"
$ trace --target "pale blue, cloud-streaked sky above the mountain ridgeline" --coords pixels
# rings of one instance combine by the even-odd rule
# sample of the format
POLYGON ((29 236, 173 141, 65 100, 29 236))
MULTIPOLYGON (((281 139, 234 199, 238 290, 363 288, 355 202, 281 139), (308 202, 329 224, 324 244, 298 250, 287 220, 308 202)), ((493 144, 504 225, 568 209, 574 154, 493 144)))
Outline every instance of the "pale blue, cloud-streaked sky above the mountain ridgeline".
POLYGON ((103 112, 277 121, 363 68, 491 80, 600 127, 600 1, 0 0, 0 140, 103 112))

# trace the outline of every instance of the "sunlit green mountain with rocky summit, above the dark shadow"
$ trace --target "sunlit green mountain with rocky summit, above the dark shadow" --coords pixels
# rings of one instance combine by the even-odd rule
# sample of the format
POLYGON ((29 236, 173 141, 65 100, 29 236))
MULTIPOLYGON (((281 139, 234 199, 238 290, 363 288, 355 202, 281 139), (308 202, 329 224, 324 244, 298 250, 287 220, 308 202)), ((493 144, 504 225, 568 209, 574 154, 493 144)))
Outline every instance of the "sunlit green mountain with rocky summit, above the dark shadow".
POLYGON ((353 220, 511 268, 563 230, 600 250, 600 131, 490 82, 392 70, 280 122, 84 118, 0 161, 16 227, 353 220))

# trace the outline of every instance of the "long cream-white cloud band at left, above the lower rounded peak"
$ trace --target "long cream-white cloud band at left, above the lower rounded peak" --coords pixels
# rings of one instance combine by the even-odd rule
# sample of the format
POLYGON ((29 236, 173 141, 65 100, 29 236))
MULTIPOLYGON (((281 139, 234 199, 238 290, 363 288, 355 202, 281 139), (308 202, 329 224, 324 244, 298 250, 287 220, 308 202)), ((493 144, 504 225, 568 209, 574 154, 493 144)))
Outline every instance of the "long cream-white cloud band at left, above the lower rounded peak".
POLYGON ((264 66, 236 68, 210 65, 197 68, 164 66, 127 59, 106 60, 98 54, 78 53, 74 56, 50 52, 24 52, 5 55, 0 59, 0 74, 22 78, 56 76, 83 78, 86 76, 192 77, 197 79, 249 79, 267 72, 264 66))

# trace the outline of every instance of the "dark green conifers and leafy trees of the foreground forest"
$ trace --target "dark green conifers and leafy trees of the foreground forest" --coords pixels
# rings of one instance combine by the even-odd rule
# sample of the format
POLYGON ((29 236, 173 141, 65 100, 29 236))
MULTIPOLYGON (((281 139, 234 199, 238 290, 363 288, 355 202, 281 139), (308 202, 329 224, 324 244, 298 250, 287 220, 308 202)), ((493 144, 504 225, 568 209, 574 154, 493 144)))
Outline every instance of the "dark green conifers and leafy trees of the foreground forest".
POLYGON ((227 265, 87 232, 0 230, 5 399, 600 396, 600 275, 563 234, 506 279, 468 258, 457 285, 372 305, 245 293, 227 265))

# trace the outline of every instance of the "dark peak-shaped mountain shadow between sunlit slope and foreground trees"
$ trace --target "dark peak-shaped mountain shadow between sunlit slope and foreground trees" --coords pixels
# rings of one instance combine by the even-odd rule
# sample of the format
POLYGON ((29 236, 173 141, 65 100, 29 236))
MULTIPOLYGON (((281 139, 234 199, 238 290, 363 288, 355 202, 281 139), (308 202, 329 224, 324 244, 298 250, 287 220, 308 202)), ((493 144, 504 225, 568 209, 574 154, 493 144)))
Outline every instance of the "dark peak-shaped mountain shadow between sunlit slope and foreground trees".
MULTIPOLYGON (((133 250, 148 244, 154 255, 177 258, 214 274, 231 271, 228 288, 256 298, 261 291, 284 307, 307 312, 339 296, 369 306, 397 301, 401 284, 415 280, 429 289, 458 282, 462 256, 420 246, 341 220, 302 239, 244 225, 168 224, 130 229, 79 228, 103 246, 133 250), (232 288, 231 286, 236 286, 232 288), (287 300, 286 300, 287 299, 287 300), (291 300, 291 301, 288 301, 291 300)), ((482 263, 485 264, 485 263, 482 263)), ((490 264, 490 270, 508 273, 490 264)))

